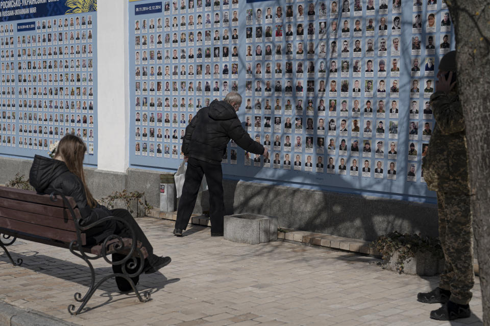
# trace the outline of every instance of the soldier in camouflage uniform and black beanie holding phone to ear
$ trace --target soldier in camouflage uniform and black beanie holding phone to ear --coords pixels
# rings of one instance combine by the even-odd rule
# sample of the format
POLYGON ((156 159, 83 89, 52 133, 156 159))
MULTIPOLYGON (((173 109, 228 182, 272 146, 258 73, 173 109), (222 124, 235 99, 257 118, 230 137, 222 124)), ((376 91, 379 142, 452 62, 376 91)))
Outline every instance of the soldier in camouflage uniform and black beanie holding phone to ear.
POLYGON ((470 317, 474 284, 473 229, 468 181, 468 150, 456 82, 456 51, 441 59, 436 92, 430 97, 436 124, 423 159, 427 187, 437 192, 439 239, 446 260, 439 287, 419 293, 424 303, 443 303, 430 313, 439 320, 470 317))

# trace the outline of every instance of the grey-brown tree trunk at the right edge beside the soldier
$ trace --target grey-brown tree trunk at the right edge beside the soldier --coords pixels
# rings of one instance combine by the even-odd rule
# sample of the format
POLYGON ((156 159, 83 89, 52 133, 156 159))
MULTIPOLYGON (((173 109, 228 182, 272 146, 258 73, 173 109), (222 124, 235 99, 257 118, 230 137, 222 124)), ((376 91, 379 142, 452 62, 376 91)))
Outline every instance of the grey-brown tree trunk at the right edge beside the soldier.
POLYGON ((455 28, 458 88, 468 139, 483 323, 490 325, 490 2, 447 0, 447 4, 455 28))

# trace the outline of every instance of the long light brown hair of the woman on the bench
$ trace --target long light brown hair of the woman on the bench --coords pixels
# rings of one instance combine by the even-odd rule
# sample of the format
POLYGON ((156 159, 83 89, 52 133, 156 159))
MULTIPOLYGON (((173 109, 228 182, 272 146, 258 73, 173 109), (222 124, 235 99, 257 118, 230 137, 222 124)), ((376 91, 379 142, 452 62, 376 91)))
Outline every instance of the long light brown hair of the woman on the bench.
POLYGON ((85 182, 85 175, 83 173, 83 158, 86 151, 87 146, 85 146, 85 143, 79 137, 67 134, 60 140, 58 147, 56 148, 55 157, 60 155, 63 158, 66 167, 68 167, 68 170, 82 181, 85 196, 87 197, 87 203, 93 208, 97 206, 97 201, 93 199, 85 182))

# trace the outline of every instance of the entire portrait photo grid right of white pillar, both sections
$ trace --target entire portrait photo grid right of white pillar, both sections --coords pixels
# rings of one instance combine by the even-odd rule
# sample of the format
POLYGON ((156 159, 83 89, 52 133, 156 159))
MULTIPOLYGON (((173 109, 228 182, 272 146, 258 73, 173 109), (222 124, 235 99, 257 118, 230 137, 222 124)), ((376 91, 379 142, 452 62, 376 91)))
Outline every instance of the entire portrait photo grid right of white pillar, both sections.
POLYGON ((232 141, 224 163, 424 182, 434 66, 451 48, 445 1, 163 4, 132 21, 136 155, 182 158, 192 115, 239 89, 269 155, 232 141))

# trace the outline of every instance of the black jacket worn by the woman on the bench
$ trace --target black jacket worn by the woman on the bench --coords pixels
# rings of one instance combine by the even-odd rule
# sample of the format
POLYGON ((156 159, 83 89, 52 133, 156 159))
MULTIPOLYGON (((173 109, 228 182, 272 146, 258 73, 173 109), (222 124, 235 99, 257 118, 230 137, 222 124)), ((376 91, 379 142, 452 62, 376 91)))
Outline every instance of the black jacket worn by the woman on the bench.
MULTIPOLYGON (((105 206, 97 205, 91 208, 88 205, 82 181, 68 170, 63 161, 40 155, 34 156, 29 173, 29 183, 41 194, 58 191, 65 196, 73 197, 82 216, 82 226, 112 215, 105 206)), ((90 229, 87 235, 99 243, 110 234, 114 234, 115 227, 114 222, 108 222, 90 229)))

